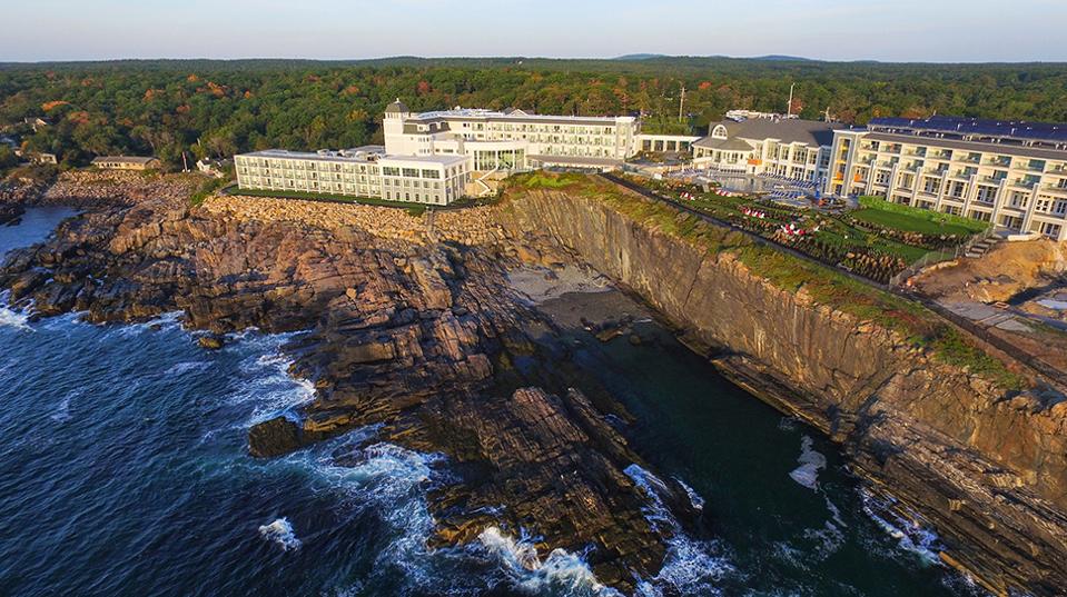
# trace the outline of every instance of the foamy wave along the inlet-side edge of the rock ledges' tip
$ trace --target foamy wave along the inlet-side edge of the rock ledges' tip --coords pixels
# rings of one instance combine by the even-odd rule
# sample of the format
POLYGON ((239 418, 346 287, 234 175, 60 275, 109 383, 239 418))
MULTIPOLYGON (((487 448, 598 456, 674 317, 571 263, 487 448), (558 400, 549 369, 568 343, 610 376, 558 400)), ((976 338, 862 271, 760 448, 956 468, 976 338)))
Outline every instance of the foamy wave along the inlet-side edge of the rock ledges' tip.
POLYGON ((721 595, 719 586, 723 578, 737 573, 723 554, 722 545, 715 540, 698 540, 685 534, 663 504, 661 494, 665 485, 659 477, 639 465, 630 465, 625 474, 649 498, 649 505, 644 508, 645 519, 654 529, 670 537, 663 567, 655 577, 638 583, 636 595, 661 596, 663 589, 669 595, 721 595))

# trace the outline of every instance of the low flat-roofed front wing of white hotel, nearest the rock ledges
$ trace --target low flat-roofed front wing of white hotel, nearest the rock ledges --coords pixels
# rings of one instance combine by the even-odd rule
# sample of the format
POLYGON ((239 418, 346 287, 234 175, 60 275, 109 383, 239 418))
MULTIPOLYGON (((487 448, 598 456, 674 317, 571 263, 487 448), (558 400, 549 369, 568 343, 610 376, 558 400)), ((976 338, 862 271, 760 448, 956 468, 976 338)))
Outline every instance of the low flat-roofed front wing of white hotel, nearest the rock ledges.
POLYGON ((268 149, 236 156, 241 189, 369 197, 446 206, 466 195, 464 156, 387 156, 368 146, 344 151, 268 149))

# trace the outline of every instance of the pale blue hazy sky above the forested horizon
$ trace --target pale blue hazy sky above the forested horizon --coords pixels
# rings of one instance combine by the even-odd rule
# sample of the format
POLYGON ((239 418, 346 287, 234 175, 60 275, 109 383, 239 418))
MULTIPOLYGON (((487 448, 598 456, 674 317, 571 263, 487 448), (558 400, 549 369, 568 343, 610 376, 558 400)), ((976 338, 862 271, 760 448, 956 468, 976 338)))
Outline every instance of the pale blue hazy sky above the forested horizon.
POLYGON ((1067 0, 3 0, 0 62, 788 54, 1067 61, 1067 0))

